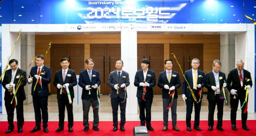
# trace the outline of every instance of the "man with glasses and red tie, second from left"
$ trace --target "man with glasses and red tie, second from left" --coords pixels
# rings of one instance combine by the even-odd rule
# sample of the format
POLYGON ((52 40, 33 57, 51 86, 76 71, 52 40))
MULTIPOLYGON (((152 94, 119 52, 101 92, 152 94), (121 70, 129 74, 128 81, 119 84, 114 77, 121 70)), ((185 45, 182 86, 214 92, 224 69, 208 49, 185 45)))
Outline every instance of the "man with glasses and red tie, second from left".
POLYGON ((36 66, 30 70, 28 84, 32 83, 31 95, 35 112, 36 126, 30 132, 41 130, 41 120, 43 120, 44 132, 48 132, 48 84, 51 82, 51 68, 44 65, 44 55, 36 57, 36 66), (38 80, 38 82, 37 82, 38 80), (37 84, 36 84, 37 82, 37 84), (41 116, 42 112, 42 116, 41 116), (41 118, 42 117, 42 118, 41 118))

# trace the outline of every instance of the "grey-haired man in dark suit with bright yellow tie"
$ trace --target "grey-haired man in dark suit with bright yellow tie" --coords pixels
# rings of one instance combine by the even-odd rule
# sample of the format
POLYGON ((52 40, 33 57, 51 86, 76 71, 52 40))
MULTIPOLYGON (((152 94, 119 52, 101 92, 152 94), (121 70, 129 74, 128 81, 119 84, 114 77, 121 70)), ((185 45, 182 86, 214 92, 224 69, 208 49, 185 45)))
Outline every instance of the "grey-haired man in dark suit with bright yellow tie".
MULTIPOLYGON (((198 95, 199 91, 204 87, 205 82, 205 76, 204 72, 201 70, 198 70, 198 67, 200 66, 200 60, 198 58, 192 59, 191 63, 192 69, 187 70, 184 75, 185 78, 188 80, 188 84, 186 80, 183 80, 182 84, 182 98, 186 100, 186 125, 187 125, 187 131, 191 131, 191 114, 193 110, 193 104, 195 108, 195 121, 194 121, 194 129, 198 131, 202 131, 201 128, 199 128, 199 121, 200 121, 200 110, 201 110, 201 103, 200 101, 200 95, 198 95), (194 92, 194 95, 196 97, 196 101, 192 97, 192 93, 188 87, 191 87, 192 91, 194 92)), ((203 95, 201 95, 203 97, 203 95)), ((201 97, 201 99, 202 99, 201 97)))

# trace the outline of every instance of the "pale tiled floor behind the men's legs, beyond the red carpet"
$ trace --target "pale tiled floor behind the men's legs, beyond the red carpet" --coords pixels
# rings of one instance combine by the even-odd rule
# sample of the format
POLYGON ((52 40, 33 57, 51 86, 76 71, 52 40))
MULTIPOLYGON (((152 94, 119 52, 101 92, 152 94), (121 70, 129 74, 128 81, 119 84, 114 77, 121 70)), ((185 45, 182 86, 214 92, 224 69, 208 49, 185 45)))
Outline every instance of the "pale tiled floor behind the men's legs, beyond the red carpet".
MULTIPOLYGON (((100 98, 101 105, 99 111, 100 121, 110 121, 112 120, 112 109, 110 103, 109 95, 102 95, 100 98)), ((5 110, 5 109, 3 109, 5 110)), ((194 109, 193 109, 194 110, 194 109)), ((56 95, 49 96, 48 101, 48 113, 49 121, 58 121, 58 103, 56 95)), ((74 120, 82 121, 83 111, 82 107, 74 107, 74 120)), ((14 114, 14 120, 16 120, 16 114, 14 114)), ((34 121, 34 108, 33 104, 24 105, 24 119, 25 121, 34 121)), ((120 120, 120 113, 118 113, 118 119, 120 120)), ((237 119, 241 119, 241 111, 237 112, 237 119)), ((256 113, 249 113, 248 120, 256 119, 256 113)), ((0 120, 7 121, 7 115, 0 115, 0 120)), ((67 119, 67 113, 65 116, 67 119)), ((89 120, 93 120, 92 109, 90 109, 89 120)), ((126 115, 126 120, 140 120, 139 115, 126 115)), ((152 103, 152 120, 163 120, 163 109, 162 109, 162 95, 154 95, 152 103)), ((169 111, 169 120, 171 120, 171 112, 169 111)), ((186 120, 186 105, 182 101, 181 95, 178 97, 178 106, 177 106, 177 120, 186 120)), ((194 111, 192 113, 192 120, 194 120, 194 111)), ((204 96, 202 101, 202 107, 200 112, 200 120, 208 120, 208 101, 206 96, 204 96)), ((217 108, 214 113, 214 120, 217 120, 217 108)), ((230 108, 224 106, 224 115, 223 120, 230 120, 230 108)))

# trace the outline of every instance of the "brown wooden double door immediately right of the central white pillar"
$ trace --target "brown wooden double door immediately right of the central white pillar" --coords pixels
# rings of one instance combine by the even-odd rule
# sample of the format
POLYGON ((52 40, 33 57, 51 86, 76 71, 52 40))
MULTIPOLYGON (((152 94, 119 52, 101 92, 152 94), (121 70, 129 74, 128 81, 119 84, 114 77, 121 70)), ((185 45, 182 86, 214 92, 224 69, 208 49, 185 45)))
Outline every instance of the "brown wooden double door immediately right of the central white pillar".
POLYGON ((153 87, 154 94, 161 94, 162 89, 157 86, 159 73, 163 69, 163 45, 162 44, 138 44, 137 49, 137 70, 141 69, 140 62, 142 58, 148 58, 150 60, 149 69, 153 70, 156 74, 156 86, 153 87))

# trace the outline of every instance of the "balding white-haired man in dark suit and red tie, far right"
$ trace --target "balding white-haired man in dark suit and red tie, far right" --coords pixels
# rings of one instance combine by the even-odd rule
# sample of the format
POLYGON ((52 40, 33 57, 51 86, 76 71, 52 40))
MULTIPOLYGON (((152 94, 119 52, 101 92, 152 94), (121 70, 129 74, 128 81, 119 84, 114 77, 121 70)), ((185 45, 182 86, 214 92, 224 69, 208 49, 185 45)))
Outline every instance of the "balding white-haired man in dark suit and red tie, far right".
MULTIPOLYGON (((232 129, 237 130, 236 128, 236 111, 238 108, 238 103, 240 100, 240 104, 242 104, 245 101, 246 98, 246 90, 244 90, 244 87, 247 89, 251 89, 252 87, 252 78, 251 73, 244 69, 244 62, 243 60, 238 60, 236 62, 236 67, 234 70, 231 70, 228 74, 227 78, 227 88, 228 91, 230 91, 230 107, 231 107, 231 113, 230 113, 230 119, 232 124, 232 129), (232 85, 231 85, 232 83, 232 85), (236 95, 236 96, 234 96, 236 95)), ((248 98, 247 98, 248 102, 248 98)), ((246 125, 247 120, 247 110, 244 113, 246 105, 242 108, 242 128, 244 130, 249 130, 249 128, 246 125)))

